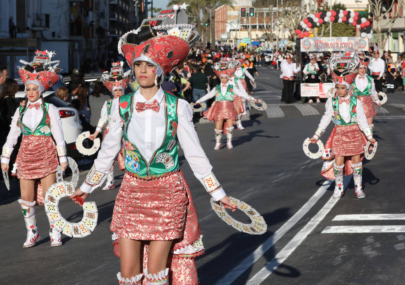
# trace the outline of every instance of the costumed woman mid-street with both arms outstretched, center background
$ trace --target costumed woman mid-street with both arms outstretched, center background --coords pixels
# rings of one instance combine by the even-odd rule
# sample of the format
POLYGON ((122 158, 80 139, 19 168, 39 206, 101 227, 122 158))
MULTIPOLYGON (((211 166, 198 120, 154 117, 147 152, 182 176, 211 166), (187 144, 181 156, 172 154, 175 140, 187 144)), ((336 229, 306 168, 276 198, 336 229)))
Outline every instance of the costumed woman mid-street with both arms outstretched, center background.
POLYGON ((248 99, 249 101, 258 101, 252 96, 247 95, 246 92, 241 91, 241 89, 235 88, 233 82, 232 84, 230 84, 228 80, 229 77, 234 74, 234 71, 235 68, 232 67, 227 67, 222 70, 214 70, 214 72, 220 77, 221 84, 215 86, 214 89, 212 89, 205 96, 196 101, 196 104, 198 104, 215 96, 215 102, 206 112, 203 113, 205 118, 207 118, 211 122, 215 122, 214 150, 219 150, 221 148, 221 137, 224 124, 226 124, 226 147, 228 149, 233 148, 233 122, 237 120, 237 114, 234 106, 234 94, 238 95, 239 97, 248 99))

